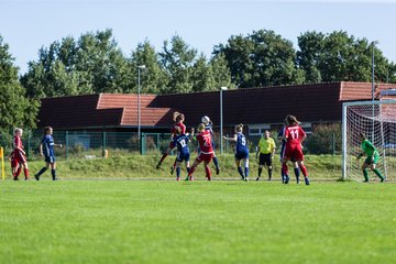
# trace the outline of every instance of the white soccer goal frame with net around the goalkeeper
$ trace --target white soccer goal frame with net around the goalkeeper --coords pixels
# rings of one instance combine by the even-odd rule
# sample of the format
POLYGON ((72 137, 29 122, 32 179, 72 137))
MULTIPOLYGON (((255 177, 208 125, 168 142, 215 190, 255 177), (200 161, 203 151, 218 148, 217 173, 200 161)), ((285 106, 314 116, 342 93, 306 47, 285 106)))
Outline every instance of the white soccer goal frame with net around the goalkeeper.
MULTIPOLYGON (((342 178, 362 180, 362 153, 360 133, 366 135, 380 153, 377 168, 396 179, 396 100, 356 101, 342 105, 342 178)), ((370 170, 370 169, 369 169, 370 170)), ((369 172, 371 180, 377 179, 369 172)), ((377 179, 378 180, 378 179, 377 179)))

